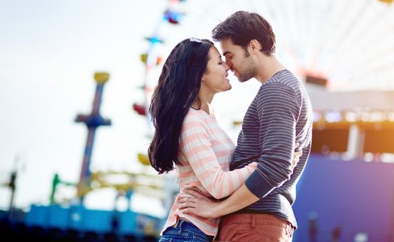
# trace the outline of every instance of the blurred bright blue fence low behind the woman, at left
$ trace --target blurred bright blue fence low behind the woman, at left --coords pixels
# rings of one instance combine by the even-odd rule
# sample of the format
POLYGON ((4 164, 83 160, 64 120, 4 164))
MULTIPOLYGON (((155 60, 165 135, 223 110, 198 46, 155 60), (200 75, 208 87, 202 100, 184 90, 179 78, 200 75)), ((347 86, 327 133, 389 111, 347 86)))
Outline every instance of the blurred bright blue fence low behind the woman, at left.
POLYGON ((82 206, 61 207, 59 205, 32 205, 26 214, 26 225, 82 232, 117 232, 137 236, 160 233, 162 220, 133 211, 117 212, 88 210, 82 206))

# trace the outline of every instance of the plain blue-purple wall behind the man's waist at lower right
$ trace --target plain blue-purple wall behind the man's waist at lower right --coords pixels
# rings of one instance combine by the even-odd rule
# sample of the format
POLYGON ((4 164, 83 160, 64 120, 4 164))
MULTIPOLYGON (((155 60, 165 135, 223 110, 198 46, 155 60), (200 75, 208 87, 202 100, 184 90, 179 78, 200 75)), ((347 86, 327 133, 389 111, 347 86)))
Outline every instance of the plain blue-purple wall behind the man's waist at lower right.
POLYGON ((294 242, 313 241, 308 216, 317 214, 317 241, 332 241, 341 226, 339 241, 394 241, 394 164, 359 160, 328 160, 312 154, 297 186, 293 205, 299 223, 294 242))

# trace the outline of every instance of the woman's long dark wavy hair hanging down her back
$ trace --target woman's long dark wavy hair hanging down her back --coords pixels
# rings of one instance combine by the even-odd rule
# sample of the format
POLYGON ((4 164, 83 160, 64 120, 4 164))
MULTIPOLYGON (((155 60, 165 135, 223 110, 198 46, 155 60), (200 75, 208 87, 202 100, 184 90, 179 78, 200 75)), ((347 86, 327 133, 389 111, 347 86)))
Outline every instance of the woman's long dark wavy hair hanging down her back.
POLYGON ((207 39, 184 39, 171 50, 162 68, 149 107, 155 134, 148 156, 159 174, 171 171, 174 164, 181 165, 180 129, 191 104, 198 98, 212 46, 207 39))

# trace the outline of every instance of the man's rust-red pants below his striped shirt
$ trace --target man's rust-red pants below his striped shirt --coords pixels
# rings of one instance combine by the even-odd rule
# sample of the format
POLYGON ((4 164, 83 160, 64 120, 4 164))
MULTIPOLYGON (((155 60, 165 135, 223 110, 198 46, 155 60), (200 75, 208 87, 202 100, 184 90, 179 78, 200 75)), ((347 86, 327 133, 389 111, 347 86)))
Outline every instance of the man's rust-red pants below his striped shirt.
POLYGON ((221 218, 214 241, 291 242, 294 227, 270 214, 230 214, 221 218))

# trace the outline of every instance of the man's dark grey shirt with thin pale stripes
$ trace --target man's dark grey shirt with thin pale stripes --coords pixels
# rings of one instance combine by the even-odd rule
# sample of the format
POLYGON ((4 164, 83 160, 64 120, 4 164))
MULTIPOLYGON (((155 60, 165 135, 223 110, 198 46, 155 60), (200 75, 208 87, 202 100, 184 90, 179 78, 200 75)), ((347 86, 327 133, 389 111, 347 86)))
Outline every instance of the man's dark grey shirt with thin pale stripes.
POLYGON ((283 70, 264 82, 250 104, 230 169, 258 161, 245 182, 260 200, 237 213, 274 214, 297 227, 292 211, 296 185, 310 153, 312 106, 303 84, 283 70), (292 170, 294 143, 303 155, 292 170))

